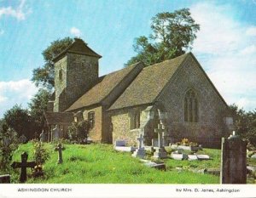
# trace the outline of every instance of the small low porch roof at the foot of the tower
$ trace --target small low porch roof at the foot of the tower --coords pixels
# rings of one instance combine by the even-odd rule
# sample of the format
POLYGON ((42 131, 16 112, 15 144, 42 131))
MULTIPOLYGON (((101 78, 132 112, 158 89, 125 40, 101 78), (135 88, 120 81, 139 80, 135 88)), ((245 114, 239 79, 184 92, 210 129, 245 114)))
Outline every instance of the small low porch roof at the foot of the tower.
POLYGON ((44 112, 45 120, 48 125, 67 125, 73 122, 73 113, 69 112, 44 112))

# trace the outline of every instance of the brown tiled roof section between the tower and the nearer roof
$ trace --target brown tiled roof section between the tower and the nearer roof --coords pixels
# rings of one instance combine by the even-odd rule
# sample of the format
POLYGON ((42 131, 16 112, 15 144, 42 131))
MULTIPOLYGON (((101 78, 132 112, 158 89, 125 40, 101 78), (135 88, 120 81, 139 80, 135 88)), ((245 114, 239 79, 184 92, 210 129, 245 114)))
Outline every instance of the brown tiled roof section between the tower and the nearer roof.
POLYGON ((96 105, 102 102, 119 83, 128 76, 129 73, 140 63, 129 65, 128 67, 110 73, 106 76, 101 76, 99 82, 91 88, 88 92, 84 93, 76 102, 73 103, 66 111, 77 110, 84 106, 96 105))

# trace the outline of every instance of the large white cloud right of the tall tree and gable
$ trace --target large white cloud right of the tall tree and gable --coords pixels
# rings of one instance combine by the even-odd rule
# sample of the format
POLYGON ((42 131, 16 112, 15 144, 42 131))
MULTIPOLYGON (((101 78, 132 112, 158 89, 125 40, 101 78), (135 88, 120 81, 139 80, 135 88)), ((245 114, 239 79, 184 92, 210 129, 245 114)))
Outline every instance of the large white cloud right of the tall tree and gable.
POLYGON ((228 104, 256 108, 255 26, 234 20, 234 8, 214 2, 196 3, 192 17, 201 25, 193 52, 228 104))

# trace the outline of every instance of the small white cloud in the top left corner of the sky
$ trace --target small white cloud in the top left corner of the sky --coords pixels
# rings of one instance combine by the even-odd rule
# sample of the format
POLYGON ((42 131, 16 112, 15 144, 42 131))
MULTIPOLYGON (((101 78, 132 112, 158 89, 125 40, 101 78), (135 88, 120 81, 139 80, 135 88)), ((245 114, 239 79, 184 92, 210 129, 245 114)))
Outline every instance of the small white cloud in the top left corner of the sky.
POLYGON ((17 8, 2 7, 0 8, 0 19, 3 15, 15 17, 17 20, 25 20, 26 15, 32 12, 31 8, 26 6, 26 0, 20 0, 17 8))

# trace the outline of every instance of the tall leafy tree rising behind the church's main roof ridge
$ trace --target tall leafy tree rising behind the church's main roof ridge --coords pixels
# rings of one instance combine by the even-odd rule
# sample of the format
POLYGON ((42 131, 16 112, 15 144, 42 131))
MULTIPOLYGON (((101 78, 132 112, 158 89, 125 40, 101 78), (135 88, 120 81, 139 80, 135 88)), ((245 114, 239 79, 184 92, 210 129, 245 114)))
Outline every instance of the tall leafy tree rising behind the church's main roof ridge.
POLYGON ((188 48, 192 48, 200 25, 195 24, 189 8, 182 8, 173 13, 156 14, 152 18, 151 29, 153 33, 149 37, 135 38, 133 48, 137 55, 125 65, 138 61, 145 65, 154 65, 184 54, 188 48))

